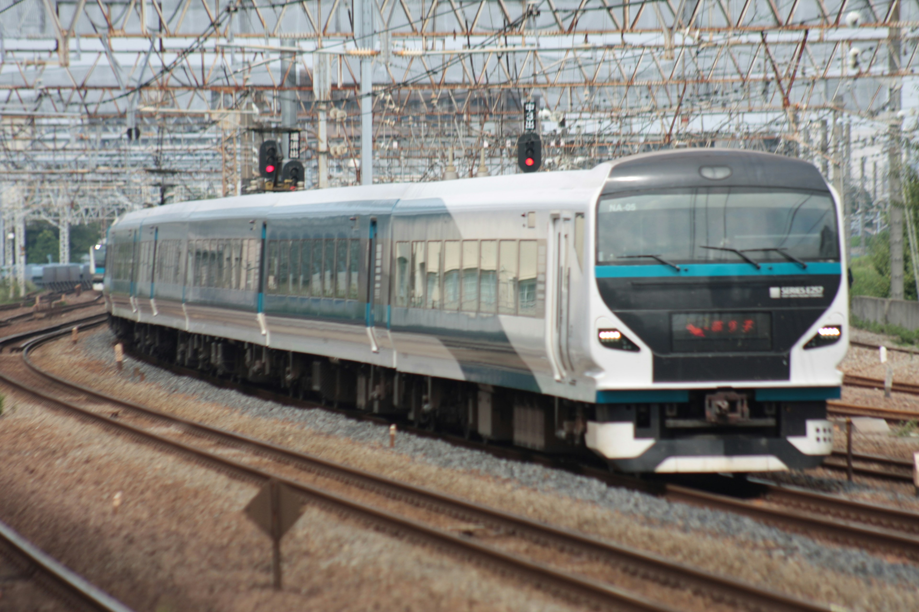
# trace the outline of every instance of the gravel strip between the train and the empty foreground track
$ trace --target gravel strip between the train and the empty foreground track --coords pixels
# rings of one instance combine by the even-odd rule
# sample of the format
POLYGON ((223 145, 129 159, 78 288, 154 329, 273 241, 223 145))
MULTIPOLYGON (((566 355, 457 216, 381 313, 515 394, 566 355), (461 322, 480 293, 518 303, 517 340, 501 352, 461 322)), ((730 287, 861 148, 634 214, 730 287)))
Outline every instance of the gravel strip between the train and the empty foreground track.
MULTIPOLYGON (((387 426, 322 409, 281 406, 179 377, 131 358, 127 358, 124 372, 115 374, 113 342, 108 329, 83 335, 76 347, 59 342, 56 346, 65 347, 65 353, 89 358, 87 363, 95 370, 77 368, 68 372, 59 364, 59 373, 74 380, 80 379, 78 374, 85 375, 89 377, 85 384, 97 386, 97 373, 106 372, 118 395, 133 395, 136 401, 155 406, 147 400, 153 399, 150 390, 157 389, 157 393, 175 399, 176 411, 185 410, 187 400, 210 406, 195 410, 199 420, 214 425, 336 461, 370 462, 379 473, 455 495, 481 496, 492 506, 594 532, 599 537, 667 554, 712 571, 733 573, 779 590, 863 609, 919 607, 915 587, 919 569, 909 562, 880 559, 865 551, 826 545, 745 517, 673 504, 591 478, 498 459, 405 432, 399 433, 396 451, 392 452, 385 448, 389 441, 387 426), (143 383, 135 369, 144 374, 143 383), (265 433, 252 433, 257 428, 265 433), (560 504, 560 500, 568 501, 560 504), (860 580, 853 584, 852 577, 860 580), (894 585, 896 588, 891 588, 894 585)), ((183 415, 193 417, 191 412, 183 415)))

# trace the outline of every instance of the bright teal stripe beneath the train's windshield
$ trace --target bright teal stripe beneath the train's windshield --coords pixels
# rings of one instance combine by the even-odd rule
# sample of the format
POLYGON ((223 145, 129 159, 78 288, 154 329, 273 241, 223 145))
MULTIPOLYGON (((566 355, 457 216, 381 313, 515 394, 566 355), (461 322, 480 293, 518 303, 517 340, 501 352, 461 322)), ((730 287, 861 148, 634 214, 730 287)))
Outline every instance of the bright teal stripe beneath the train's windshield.
POLYGON ((686 263, 677 272, 673 266, 659 263, 647 265, 597 265, 596 278, 641 278, 649 276, 800 276, 801 274, 841 274, 838 261, 811 261, 801 268, 791 261, 763 263, 757 270, 749 263, 686 263))

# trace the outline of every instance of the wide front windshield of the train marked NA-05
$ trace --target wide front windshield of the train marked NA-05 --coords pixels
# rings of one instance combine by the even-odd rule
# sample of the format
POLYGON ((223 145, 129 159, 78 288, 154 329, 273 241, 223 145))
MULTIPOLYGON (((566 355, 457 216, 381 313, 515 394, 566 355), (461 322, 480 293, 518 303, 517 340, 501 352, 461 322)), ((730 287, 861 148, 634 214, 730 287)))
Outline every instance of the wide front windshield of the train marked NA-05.
POLYGON ((839 261, 826 192, 707 187, 601 197, 598 264, 839 261))

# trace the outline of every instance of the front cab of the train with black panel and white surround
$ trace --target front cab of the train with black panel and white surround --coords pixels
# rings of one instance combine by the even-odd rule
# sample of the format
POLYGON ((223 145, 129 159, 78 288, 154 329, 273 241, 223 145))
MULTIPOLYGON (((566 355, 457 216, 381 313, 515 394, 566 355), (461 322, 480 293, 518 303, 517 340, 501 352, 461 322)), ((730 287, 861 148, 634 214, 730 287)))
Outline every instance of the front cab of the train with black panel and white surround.
POLYGON ((819 465, 847 346, 841 227, 802 161, 685 150, 614 165, 594 218, 588 448, 630 473, 819 465))

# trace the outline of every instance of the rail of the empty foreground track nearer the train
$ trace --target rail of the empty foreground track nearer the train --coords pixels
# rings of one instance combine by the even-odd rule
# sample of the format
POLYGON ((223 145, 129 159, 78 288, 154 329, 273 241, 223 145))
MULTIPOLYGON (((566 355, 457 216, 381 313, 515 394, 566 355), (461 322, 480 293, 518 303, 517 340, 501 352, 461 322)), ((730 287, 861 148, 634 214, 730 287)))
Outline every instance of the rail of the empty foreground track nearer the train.
MULTIPOLYGON (((743 581, 718 575, 716 573, 709 573, 704 570, 699 570, 698 568, 684 565, 682 563, 671 562, 664 559, 663 557, 659 557, 648 552, 599 541, 588 535, 578 533, 570 529, 552 527, 544 523, 530 520, 527 517, 520 517, 518 515, 488 506, 474 504, 460 499, 459 497, 438 493, 424 487, 403 483, 377 474, 367 473, 340 463, 324 460, 309 453, 294 451, 285 447, 268 443, 264 440, 256 440, 233 431, 228 431, 222 428, 214 428, 209 425, 189 420, 187 418, 163 413, 148 406, 142 406, 130 401, 122 400, 117 397, 113 397, 111 395, 85 387, 84 385, 72 383, 55 374, 41 370, 34 364, 34 362, 31 362, 29 359, 30 349, 37 347, 40 345, 40 343, 54 339, 57 335, 60 335, 60 332, 53 331, 50 334, 31 340, 23 351, 23 359, 26 362, 28 368, 33 373, 36 373, 56 384, 62 384, 66 387, 72 388, 82 394, 95 396, 98 399, 140 412, 147 417, 153 417, 179 424, 186 431, 196 431, 200 435, 206 436, 208 438, 221 438, 224 440, 231 440, 234 445, 243 444, 249 446, 259 454, 275 455, 285 462, 294 462, 301 466, 307 467, 312 472, 321 473, 326 477, 331 477, 335 480, 346 482, 347 484, 357 485, 361 488, 380 493, 381 495, 387 495, 392 498, 402 499, 403 501, 408 498, 411 503, 417 506, 432 508, 454 517, 462 517, 471 522, 484 523, 493 527, 494 529, 499 529, 505 533, 514 533, 518 536, 528 538, 529 540, 534 540, 537 542, 551 542, 552 545, 566 550, 576 550, 591 557, 600 558, 607 562, 612 562, 624 571, 634 573, 646 580, 651 580, 670 586, 674 584, 680 584, 686 589, 696 593, 714 593, 717 594, 715 596, 720 601, 732 601, 739 605, 758 610, 825 612, 828 609, 825 606, 804 601, 790 595, 783 595, 770 589, 756 586, 754 584, 748 584, 743 581)), ((2 339, 0 339, 0 342, 2 342, 2 339)), ((53 398, 51 396, 46 396, 46 399, 50 399, 51 401, 55 401, 57 403, 62 403, 62 400, 53 398)), ((133 426, 130 426, 126 423, 113 421, 112 419, 98 415, 95 412, 92 414, 96 415, 96 418, 103 420, 104 422, 114 423, 119 427, 127 426, 129 428, 133 428, 133 426)), ((158 436, 157 434, 151 434, 151 436, 154 437, 157 441, 162 441, 160 440, 162 437, 158 436)), ((224 461, 223 458, 221 458, 219 455, 213 455, 212 453, 209 453, 208 451, 202 451, 197 447, 188 447, 182 442, 177 442, 170 439, 164 440, 166 440, 164 443, 168 443, 170 446, 176 448, 187 450, 196 456, 206 457, 207 459, 218 463, 224 461), (202 455, 202 452, 206 454, 202 455)), ((232 461, 227 460, 227 462, 232 461)), ((249 468, 248 466, 244 466, 244 464, 239 464, 236 462, 232 463, 233 467, 238 468, 241 472, 249 474, 254 474, 257 472, 253 471, 254 469, 249 468)), ((263 474, 264 478, 269 476, 270 474, 263 474)), ((321 492, 321 495, 316 493, 316 491, 321 491, 319 489, 313 490, 314 487, 310 487, 309 485, 298 484, 294 481, 289 481, 279 477, 278 479, 285 484, 293 486, 297 490, 301 491, 301 493, 304 495, 312 496, 312 498, 320 499, 321 501, 324 500, 324 502, 328 501, 322 496, 326 495, 325 492, 321 492)), ((335 504, 339 503, 340 499, 342 498, 336 497, 335 504)), ((354 502, 350 501, 347 503, 355 504, 354 502)), ((351 510, 355 509, 354 506, 348 507, 351 510)), ((373 511, 380 512, 376 509, 373 511)), ((374 516, 379 518, 377 515, 374 516)), ((400 518, 400 520, 403 519, 400 518)), ((454 540, 456 539, 456 537, 452 536, 451 534, 447 534, 446 532, 442 532, 440 530, 436 531, 437 534, 446 534, 449 538, 454 540)), ((441 535, 438 535, 437 537, 439 538, 441 535)), ((425 537, 430 538, 431 535, 426 534, 425 537)), ((463 542, 464 545, 470 543, 469 540, 464 539, 459 539, 459 541, 463 542)), ((487 549, 487 551, 494 551, 494 549, 487 546, 485 546, 484 549, 487 549)), ((491 552, 488 554, 491 554, 491 552)), ((502 552, 501 554, 506 556, 506 553, 502 552)), ((507 560, 505 559, 505 562, 506 561, 507 560)), ((542 567, 542 569, 539 570, 540 573, 544 573, 548 570, 548 568, 543 566, 540 567, 542 567)), ((532 568, 528 570, 528 572, 533 571, 534 570, 532 568)), ((590 579, 584 580, 587 580, 590 583, 596 582, 591 581, 590 579)), ((591 589, 595 591, 596 595, 596 588, 592 586, 591 589)))

